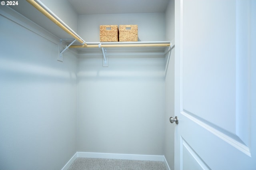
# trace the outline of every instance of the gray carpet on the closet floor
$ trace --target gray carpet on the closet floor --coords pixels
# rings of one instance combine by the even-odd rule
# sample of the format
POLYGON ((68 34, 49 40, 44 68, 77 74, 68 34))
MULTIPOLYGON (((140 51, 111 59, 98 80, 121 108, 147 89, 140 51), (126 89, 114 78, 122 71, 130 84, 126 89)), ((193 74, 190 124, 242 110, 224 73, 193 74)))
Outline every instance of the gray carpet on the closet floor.
POLYGON ((101 158, 76 158, 68 170, 167 170, 164 162, 101 158))

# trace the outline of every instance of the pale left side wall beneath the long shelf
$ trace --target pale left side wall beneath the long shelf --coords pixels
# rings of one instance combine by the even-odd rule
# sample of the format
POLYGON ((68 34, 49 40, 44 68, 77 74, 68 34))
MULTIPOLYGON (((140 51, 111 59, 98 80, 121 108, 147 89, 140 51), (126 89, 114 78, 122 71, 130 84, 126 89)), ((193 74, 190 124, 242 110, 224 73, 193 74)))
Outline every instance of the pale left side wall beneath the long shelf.
POLYGON ((0 14, 0 169, 61 169, 76 152, 77 59, 56 61, 57 38, 0 14))

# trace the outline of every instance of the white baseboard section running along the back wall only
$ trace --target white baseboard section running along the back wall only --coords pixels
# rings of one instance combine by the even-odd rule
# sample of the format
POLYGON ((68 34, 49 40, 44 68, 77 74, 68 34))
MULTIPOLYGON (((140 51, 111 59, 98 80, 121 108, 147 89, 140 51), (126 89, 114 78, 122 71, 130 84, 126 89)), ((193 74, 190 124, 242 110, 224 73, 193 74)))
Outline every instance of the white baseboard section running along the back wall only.
POLYGON ((164 156, 163 155, 138 155, 138 154, 112 154, 112 153, 96 153, 96 152, 77 152, 77 157, 81 157, 81 158, 106 158, 106 159, 164 161, 164 156))

